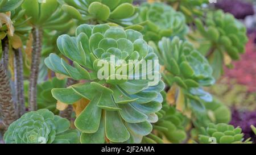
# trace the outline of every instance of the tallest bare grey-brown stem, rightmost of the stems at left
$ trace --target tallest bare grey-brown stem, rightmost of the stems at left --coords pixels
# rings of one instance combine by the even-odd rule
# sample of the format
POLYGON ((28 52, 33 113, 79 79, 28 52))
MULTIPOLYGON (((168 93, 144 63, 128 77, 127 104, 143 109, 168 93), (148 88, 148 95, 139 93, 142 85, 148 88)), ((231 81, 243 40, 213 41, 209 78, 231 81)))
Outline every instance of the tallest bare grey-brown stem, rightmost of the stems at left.
POLYGON ((30 87, 28 99, 30 103, 30 110, 36 111, 36 84, 38 81, 38 73, 39 73, 39 65, 40 65, 40 57, 42 51, 42 30, 39 28, 34 28, 33 30, 33 52, 32 52, 32 62, 30 68, 30 87))

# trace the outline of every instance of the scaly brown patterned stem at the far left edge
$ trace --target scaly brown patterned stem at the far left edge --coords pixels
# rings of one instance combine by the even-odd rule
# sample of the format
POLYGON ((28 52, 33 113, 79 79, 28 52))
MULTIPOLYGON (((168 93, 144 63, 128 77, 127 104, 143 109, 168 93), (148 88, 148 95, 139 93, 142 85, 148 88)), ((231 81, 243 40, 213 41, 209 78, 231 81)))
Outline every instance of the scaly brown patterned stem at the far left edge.
POLYGON ((9 78, 7 77, 3 62, 0 63, 0 86, 0 108, 3 124, 5 124, 5 127, 7 128, 17 117, 9 78))

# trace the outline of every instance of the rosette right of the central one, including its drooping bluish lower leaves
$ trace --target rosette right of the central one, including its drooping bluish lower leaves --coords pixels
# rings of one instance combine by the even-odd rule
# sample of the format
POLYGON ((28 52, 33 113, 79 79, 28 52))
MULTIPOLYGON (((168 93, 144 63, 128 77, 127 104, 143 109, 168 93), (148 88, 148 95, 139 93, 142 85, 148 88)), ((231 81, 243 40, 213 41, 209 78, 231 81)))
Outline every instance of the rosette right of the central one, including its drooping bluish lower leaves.
POLYGON ((180 40, 179 37, 172 40, 163 37, 158 47, 152 41, 149 44, 163 65, 163 78, 167 84, 174 87, 177 85, 185 97, 191 100, 192 107, 204 109, 201 99, 210 102, 212 97, 201 87, 213 85, 215 82, 207 59, 192 44, 180 40))

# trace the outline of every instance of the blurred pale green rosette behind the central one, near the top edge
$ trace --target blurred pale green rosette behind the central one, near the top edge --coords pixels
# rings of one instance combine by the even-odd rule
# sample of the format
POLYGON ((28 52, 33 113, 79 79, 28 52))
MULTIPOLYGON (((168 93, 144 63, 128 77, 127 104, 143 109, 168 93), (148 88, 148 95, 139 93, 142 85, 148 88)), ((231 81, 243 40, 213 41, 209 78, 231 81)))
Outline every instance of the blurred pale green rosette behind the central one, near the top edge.
POLYGON ((185 17, 181 12, 164 3, 143 3, 139 16, 133 21, 144 26, 142 31, 146 41, 159 41, 162 37, 180 36, 187 33, 185 17))

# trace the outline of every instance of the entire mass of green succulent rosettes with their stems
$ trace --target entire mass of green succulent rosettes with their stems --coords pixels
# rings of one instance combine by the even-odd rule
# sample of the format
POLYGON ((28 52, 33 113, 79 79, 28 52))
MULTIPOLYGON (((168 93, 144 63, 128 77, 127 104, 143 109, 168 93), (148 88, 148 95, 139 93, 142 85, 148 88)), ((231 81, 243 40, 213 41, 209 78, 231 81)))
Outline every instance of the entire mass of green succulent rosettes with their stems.
POLYGON ((246 29, 207 5, 1 0, 4 142, 250 143, 206 89, 246 29))

